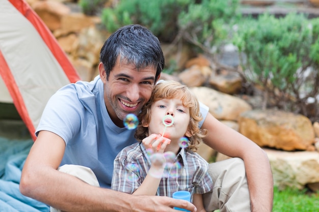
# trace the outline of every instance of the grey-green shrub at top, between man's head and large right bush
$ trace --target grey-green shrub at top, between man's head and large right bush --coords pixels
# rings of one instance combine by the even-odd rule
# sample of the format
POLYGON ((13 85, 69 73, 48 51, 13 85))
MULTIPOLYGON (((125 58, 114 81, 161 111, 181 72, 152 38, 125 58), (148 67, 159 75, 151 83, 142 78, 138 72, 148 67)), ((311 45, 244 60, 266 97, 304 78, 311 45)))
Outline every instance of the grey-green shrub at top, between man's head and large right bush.
POLYGON ((189 5, 178 16, 182 36, 201 51, 212 56, 229 42, 234 22, 240 20, 238 0, 203 0, 201 4, 189 5))

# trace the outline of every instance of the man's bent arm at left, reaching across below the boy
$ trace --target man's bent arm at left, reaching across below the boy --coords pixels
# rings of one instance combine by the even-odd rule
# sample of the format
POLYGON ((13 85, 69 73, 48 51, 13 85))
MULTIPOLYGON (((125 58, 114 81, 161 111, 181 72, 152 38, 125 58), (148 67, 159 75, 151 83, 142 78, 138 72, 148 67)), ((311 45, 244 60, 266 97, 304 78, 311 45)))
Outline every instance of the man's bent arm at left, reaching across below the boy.
POLYGON ((58 171, 65 150, 63 139, 41 131, 25 161, 20 191, 55 208, 66 211, 174 211, 183 207, 196 211, 187 201, 169 197, 135 196, 103 189, 58 171))

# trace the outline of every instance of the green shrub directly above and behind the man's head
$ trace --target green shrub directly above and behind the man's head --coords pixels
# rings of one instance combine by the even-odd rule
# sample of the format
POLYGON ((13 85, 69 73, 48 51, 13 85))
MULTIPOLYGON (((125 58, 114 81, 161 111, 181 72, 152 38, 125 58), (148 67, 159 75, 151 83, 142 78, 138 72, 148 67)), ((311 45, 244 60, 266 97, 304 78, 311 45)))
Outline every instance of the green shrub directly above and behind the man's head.
POLYGON ((109 32, 127 24, 149 28, 161 41, 171 42, 177 35, 177 16, 195 0, 121 0, 115 8, 102 11, 102 23, 109 32))

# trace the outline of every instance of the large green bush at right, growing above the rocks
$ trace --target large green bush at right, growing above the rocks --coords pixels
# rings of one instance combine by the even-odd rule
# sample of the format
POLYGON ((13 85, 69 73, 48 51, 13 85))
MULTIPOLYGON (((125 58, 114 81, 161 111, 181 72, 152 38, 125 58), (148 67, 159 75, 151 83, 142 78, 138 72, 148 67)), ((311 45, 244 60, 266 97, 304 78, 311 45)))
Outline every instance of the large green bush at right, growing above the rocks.
POLYGON ((280 109, 311 116, 307 101, 319 92, 318 36, 319 19, 302 14, 263 14, 238 24, 233 43, 246 56, 241 58, 245 78, 264 89, 264 108, 272 97, 280 109))

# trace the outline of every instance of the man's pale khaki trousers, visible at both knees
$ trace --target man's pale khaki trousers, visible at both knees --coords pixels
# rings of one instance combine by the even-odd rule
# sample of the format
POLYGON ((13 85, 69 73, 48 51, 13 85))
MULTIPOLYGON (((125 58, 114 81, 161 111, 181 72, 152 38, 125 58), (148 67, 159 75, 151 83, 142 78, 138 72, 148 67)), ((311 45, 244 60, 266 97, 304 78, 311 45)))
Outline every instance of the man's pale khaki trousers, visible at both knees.
MULTIPOLYGON (((95 174, 88 167, 64 165, 58 170, 99 187, 95 174)), ((214 182, 214 188, 211 193, 203 195, 206 211, 220 209, 220 212, 250 212, 250 196, 242 159, 231 158, 211 163, 208 171, 214 182)), ((61 212, 52 207, 50 211, 61 212)))

